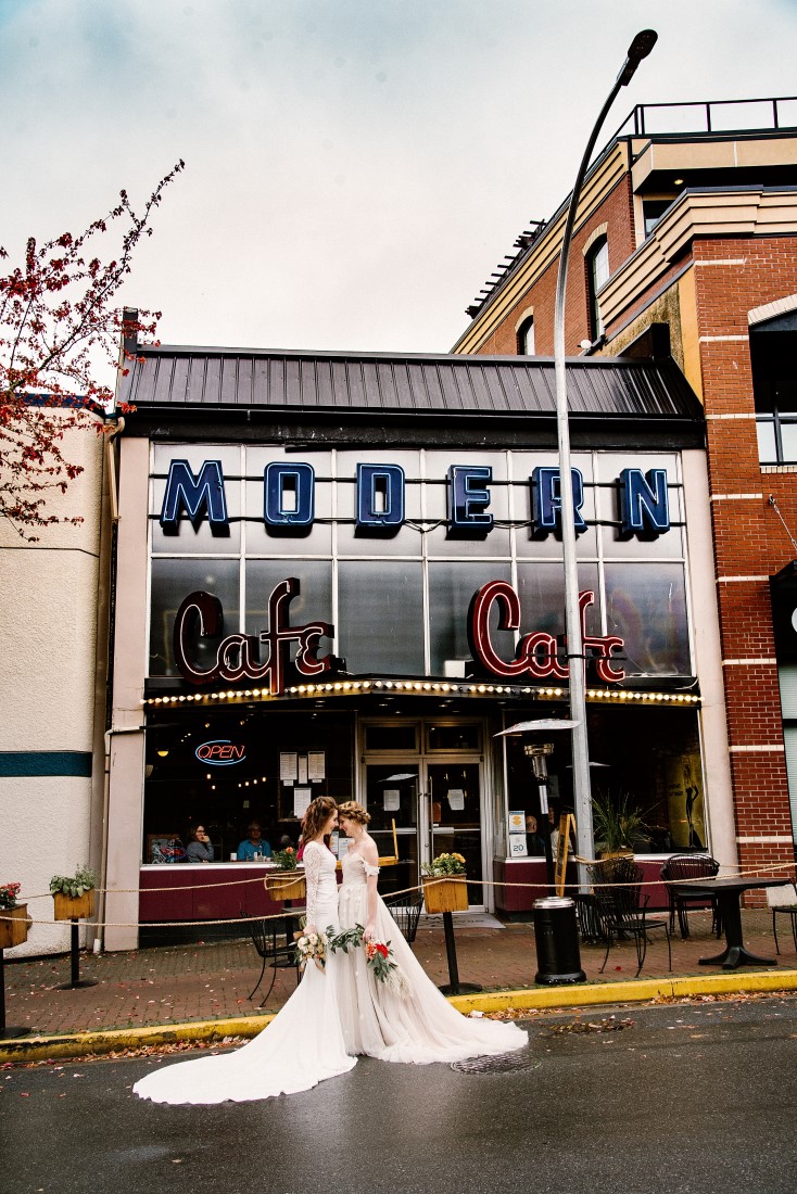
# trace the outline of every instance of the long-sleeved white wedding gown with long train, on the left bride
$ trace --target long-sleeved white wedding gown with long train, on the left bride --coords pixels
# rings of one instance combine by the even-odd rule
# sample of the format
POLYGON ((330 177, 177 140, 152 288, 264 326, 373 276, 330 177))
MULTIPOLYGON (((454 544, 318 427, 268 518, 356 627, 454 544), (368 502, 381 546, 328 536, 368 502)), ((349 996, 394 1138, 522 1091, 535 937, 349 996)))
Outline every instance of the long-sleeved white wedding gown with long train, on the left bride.
MULTIPOLYGON (((317 842, 305 847, 307 924, 319 933, 338 928, 335 855, 317 842)), ((133 1088, 155 1103, 243 1103, 309 1090, 356 1064, 345 1051, 337 1004, 336 968, 342 954, 327 952, 326 970, 314 962, 263 1032, 235 1053, 203 1057, 154 1070, 133 1088)))

